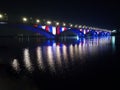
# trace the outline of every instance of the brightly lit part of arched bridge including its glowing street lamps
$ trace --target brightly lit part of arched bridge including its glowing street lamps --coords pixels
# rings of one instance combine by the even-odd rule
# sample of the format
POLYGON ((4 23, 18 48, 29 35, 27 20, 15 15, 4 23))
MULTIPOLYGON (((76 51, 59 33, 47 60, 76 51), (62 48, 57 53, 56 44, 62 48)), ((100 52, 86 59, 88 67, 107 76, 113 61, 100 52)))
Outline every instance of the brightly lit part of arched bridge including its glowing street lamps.
MULTIPOLYGON (((2 17, 3 16, 1 15, 1 19, 2 17)), ((78 38, 87 36, 110 36, 112 33, 111 30, 90 27, 86 25, 73 25, 71 23, 66 24, 65 22, 60 23, 45 19, 33 20, 33 18, 26 17, 23 17, 19 24, 14 24, 14 27, 35 32, 47 39, 72 36, 77 36, 78 38)))

